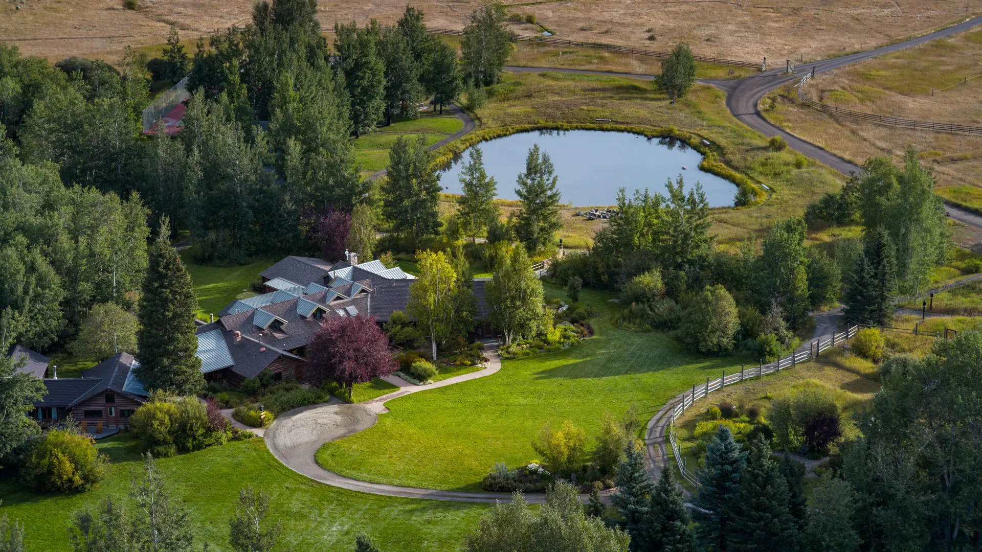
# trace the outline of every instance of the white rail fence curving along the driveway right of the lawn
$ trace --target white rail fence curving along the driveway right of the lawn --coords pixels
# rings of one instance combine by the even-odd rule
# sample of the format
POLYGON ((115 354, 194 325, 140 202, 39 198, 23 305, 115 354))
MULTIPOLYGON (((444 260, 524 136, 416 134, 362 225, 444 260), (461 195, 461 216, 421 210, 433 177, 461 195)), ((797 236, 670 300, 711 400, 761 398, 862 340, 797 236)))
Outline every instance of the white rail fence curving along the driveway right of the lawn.
POLYGON ((834 331, 832 332, 832 335, 821 336, 816 338, 814 341, 808 342, 806 346, 807 349, 799 349, 788 357, 785 357, 784 359, 777 359, 769 364, 761 363, 758 366, 750 366, 749 369, 747 369, 746 366, 741 366, 738 372, 731 374, 728 374, 726 370, 723 370, 721 377, 712 380, 707 377, 705 384, 693 384, 691 391, 682 393, 682 399, 676 402, 672 408, 672 413, 670 415, 672 416, 671 421, 673 427, 669 429, 669 444, 672 447, 672 454, 676 458, 676 464, 679 466, 679 472, 682 473, 682 478, 692 485, 699 485, 695 474, 685 467, 685 459, 682 457, 682 450, 679 447, 678 437, 676 436, 676 431, 674 428, 675 420, 684 414, 686 409, 691 408, 697 400, 706 397, 710 393, 719 391, 727 385, 742 383, 744 380, 754 377, 763 377, 770 373, 778 373, 781 370, 792 368, 798 363, 815 359, 821 355, 822 352, 827 351, 836 345, 841 345, 847 339, 855 336, 856 332, 859 331, 859 328, 859 324, 853 324, 851 326, 847 326, 842 332, 834 331))

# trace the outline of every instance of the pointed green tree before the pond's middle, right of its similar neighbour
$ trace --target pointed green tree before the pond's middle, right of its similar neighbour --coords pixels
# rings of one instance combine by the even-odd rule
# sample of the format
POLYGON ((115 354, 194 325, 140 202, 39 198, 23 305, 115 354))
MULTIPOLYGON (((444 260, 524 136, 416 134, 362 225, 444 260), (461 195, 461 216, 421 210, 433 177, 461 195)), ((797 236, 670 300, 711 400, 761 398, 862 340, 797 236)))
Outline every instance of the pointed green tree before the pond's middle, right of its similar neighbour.
POLYGON ((518 174, 515 193, 521 199, 516 233, 529 253, 544 248, 562 226, 559 217, 561 194, 556 190, 556 170, 539 144, 532 145, 525 158, 525 172, 518 174))

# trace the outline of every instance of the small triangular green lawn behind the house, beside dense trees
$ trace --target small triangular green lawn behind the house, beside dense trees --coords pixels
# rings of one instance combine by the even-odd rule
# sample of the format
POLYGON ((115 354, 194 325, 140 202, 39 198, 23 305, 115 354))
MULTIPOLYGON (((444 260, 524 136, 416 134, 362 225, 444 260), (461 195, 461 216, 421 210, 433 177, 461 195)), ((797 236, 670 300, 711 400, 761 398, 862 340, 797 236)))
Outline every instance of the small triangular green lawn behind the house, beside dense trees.
POLYGON ((191 285, 197 296, 197 317, 207 321, 208 314, 218 314, 225 305, 248 289, 248 283, 259 279, 259 273, 275 260, 256 260, 242 266, 205 266, 195 264, 187 251, 182 260, 191 274, 191 285))

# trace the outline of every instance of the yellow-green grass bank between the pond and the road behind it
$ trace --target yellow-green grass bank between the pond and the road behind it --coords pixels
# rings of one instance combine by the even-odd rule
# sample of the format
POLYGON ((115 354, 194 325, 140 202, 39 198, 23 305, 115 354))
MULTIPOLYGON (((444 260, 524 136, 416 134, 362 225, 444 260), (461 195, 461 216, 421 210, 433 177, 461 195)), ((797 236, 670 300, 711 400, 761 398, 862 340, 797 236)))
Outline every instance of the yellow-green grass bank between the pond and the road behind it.
MULTIPOLYGON (((610 119, 612 129, 634 128, 660 135, 674 128, 697 143, 708 140, 721 164, 775 192, 754 207, 714 209, 713 232, 723 243, 763 233, 777 220, 799 215, 808 202, 837 190, 842 183, 837 173, 791 150, 769 150, 767 137, 738 123, 726 108, 725 94, 709 86, 697 84, 684 99, 670 104, 650 82, 547 72, 505 74, 502 83, 489 88, 488 96, 487 106, 476 112, 482 124, 479 132, 486 137, 507 134, 506 129, 520 126, 595 128, 595 119, 610 119)), ((483 137, 468 135, 452 145, 460 150, 478 138, 483 137)), ((614 197, 618 184, 610 186, 614 197)), ((650 186, 660 191, 663 183, 650 186)))

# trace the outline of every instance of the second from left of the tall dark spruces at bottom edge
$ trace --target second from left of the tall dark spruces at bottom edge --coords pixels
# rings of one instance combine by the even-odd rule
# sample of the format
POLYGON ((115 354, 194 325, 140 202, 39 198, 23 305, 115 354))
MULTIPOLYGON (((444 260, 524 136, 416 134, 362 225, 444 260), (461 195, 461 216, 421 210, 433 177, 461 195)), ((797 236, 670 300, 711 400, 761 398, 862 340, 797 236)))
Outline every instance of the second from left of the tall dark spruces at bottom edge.
POLYGON ((672 468, 662 469, 662 475, 651 493, 651 514, 644 531, 650 552, 692 552, 692 529, 688 512, 682 502, 682 489, 672 477, 672 468))

